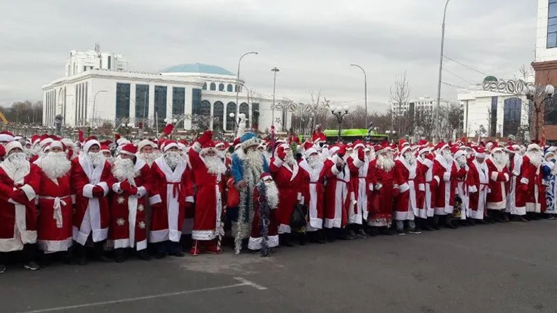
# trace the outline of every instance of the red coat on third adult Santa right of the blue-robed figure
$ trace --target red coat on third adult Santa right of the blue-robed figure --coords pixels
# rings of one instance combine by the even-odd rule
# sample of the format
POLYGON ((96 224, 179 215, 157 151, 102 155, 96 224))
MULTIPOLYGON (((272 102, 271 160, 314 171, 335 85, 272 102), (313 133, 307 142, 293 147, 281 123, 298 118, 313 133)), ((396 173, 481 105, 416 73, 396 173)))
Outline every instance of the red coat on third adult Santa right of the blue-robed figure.
MULTIPOLYGON (((347 211, 350 209, 350 170, 343 166, 340 170, 336 167, 338 156, 324 162, 322 176, 326 180, 324 196, 324 227, 340 228, 347 225, 347 211)), ((352 200, 353 198, 352 194, 352 200)), ((354 205, 354 204, 352 204, 354 205)))

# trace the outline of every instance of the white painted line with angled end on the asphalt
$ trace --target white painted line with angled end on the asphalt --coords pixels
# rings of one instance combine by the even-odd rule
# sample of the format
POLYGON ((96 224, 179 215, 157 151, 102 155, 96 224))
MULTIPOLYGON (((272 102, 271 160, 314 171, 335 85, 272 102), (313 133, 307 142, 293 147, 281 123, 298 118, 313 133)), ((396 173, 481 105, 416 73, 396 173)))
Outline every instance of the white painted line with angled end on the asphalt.
POLYGON ((184 294, 196 294, 198 292, 204 291, 213 291, 213 290, 221 290, 221 289, 230 289, 235 287, 242 287, 242 286, 249 286, 258 290, 266 290, 266 287, 261 286, 260 284, 256 284, 255 282, 251 282, 241 277, 235 277, 235 280, 239 281, 238 284, 228 284, 225 286, 218 286, 218 287, 208 287, 202 289, 194 289, 194 290, 184 290, 178 292, 169 292, 168 294, 155 294, 152 296, 141 296, 135 298, 124 298, 118 300, 111 300, 111 301, 102 301, 102 302, 93 302, 93 303, 84 303, 81 305, 68 305, 67 307, 50 307, 48 309, 40 309, 40 310, 32 310, 32 311, 24 311, 19 313, 42 313, 42 312, 56 312, 56 311, 63 311, 63 310, 73 310, 73 309, 80 309, 82 307, 96 307, 100 305, 112 305, 118 303, 127 303, 133 302, 137 300, 150 300, 155 298, 164 298, 164 297, 171 297, 171 296, 181 296, 184 294))

